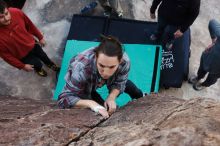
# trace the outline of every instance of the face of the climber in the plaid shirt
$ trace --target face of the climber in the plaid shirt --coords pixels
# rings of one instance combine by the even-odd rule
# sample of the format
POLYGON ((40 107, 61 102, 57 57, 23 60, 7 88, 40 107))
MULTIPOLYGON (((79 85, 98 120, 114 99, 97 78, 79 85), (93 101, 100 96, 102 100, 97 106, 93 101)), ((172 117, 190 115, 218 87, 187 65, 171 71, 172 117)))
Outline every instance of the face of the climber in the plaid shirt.
POLYGON ((118 69, 120 61, 117 56, 109 57, 100 53, 96 58, 98 72, 103 79, 109 79, 118 69))

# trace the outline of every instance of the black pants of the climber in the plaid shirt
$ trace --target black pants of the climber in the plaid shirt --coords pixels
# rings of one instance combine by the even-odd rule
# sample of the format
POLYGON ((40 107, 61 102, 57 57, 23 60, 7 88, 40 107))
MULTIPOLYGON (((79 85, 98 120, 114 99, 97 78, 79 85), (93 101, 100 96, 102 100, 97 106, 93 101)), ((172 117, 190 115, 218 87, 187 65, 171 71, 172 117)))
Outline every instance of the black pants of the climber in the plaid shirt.
MULTIPOLYGON (((143 97, 143 92, 131 80, 127 81, 124 92, 127 93, 132 99, 143 97)), ((96 90, 91 93, 91 97, 97 103, 104 105, 105 101, 96 90)))

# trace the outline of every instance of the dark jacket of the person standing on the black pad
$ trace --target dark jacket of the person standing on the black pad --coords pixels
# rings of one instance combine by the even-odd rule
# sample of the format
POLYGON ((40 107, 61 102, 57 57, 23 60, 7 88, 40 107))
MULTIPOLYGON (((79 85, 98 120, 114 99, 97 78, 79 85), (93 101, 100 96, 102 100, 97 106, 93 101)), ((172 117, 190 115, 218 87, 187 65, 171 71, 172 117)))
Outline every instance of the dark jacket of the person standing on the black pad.
POLYGON ((185 32, 199 14, 200 0, 153 0, 150 12, 154 14, 160 3, 158 17, 178 26, 181 32, 185 32))

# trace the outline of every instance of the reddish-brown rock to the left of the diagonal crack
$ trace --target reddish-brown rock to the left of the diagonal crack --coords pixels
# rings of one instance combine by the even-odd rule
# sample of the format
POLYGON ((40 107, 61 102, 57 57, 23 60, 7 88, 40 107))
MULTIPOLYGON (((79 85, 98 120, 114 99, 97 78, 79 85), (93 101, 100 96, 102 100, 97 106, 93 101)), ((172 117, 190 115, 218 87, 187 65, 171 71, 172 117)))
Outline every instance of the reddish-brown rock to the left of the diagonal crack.
POLYGON ((0 97, 0 103, 0 145, 66 145, 102 120, 88 109, 61 110, 48 100, 0 97))

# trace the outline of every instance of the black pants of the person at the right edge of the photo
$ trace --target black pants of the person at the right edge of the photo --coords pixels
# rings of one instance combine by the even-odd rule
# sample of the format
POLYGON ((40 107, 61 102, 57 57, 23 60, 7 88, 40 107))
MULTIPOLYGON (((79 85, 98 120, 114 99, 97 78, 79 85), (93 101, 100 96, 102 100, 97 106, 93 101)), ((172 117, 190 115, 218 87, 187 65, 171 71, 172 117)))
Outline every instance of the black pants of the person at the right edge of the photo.
MULTIPOLYGON (((203 68, 203 59, 201 57, 199 70, 197 72, 197 79, 200 80, 200 79, 204 78, 207 73, 208 72, 203 68)), ((204 82, 202 82, 202 86, 209 87, 209 86, 215 84, 219 77, 220 77, 220 75, 218 75, 218 74, 208 73, 208 77, 206 78, 206 80, 204 82)))

